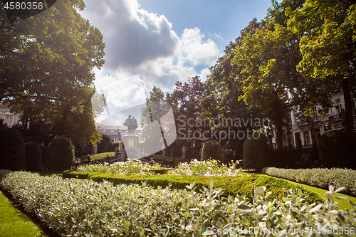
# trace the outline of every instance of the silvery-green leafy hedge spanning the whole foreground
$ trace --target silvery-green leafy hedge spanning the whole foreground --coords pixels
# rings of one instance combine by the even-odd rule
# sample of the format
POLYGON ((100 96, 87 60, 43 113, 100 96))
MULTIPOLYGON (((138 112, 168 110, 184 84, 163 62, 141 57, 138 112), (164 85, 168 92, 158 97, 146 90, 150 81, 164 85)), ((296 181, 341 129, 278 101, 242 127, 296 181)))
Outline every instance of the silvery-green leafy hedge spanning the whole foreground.
POLYGON ((184 190, 112 186, 4 170, 0 177, 2 189, 63 236, 203 236, 218 231, 228 236, 271 236, 271 231, 341 236, 346 230, 355 234, 356 213, 335 209, 331 186, 324 204, 309 205, 299 189, 283 191, 283 201, 273 201, 264 195, 266 187, 253 186, 249 202, 241 196, 222 198, 224 190, 215 189, 213 182, 197 193, 194 185, 184 190))

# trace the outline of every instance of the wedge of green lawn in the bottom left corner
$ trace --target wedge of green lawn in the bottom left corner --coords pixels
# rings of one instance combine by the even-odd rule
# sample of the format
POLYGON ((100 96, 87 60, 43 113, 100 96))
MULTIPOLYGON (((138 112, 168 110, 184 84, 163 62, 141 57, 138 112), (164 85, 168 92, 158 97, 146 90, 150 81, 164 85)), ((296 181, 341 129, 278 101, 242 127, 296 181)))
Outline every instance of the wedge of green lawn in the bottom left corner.
POLYGON ((0 237, 47 236, 0 191, 0 237))

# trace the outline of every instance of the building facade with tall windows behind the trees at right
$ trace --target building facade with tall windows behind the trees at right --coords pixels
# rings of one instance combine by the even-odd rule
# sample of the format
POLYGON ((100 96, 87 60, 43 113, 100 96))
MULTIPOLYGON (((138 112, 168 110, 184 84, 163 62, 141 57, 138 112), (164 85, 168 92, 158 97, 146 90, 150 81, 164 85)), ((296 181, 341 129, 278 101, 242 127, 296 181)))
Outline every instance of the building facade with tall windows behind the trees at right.
MULTIPOLYGON (((290 93, 288 93, 290 96, 290 93)), ((290 140, 295 148, 313 147, 318 145, 320 136, 325 132, 333 130, 344 130, 343 115, 345 112, 345 100, 343 93, 335 93, 332 95, 334 106, 328 110, 326 115, 314 115, 305 119, 297 117, 297 110, 290 111, 288 123, 290 124, 290 140)), ((356 98, 352 95, 352 114, 353 122, 356 130, 356 98)), ((288 131, 283 131, 283 147, 288 147, 288 131)))

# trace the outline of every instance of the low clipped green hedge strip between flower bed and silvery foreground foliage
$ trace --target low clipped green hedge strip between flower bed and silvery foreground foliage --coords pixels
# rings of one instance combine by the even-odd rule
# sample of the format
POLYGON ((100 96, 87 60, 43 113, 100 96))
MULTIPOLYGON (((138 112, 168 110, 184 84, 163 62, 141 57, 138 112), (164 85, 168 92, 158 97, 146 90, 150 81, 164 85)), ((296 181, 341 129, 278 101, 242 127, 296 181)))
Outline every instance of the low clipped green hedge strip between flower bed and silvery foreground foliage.
MULTIPOLYGON (((84 172, 66 171, 63 172, 63 177, 80 178, 84 172)), ((250 196, 251 187, 253 184, 257 186, 266 186, 266 191, 271 191, 269 198, 281 200, 283 189, 301 189, 304 194, 308 195, 307 201, 310 203, 323 201, 323 198, 313 192, 307 191, 303 186, 291 184, 283 179, 266 177, 261 175, 244 175, 241 177, 200 177, 200 176, 172 176, 172 175, 155 175, 155 176, 140 176, 140 175, 119 175, 119 174, 99 174, 90 172, 84 179, 93 179, 94 181, 111 181, 117 184, 142 184, 147 182, 150 186, 169 186, 172 189, 185 189, 186 186, 195 183, 199 189, 202 186, 209 187, 209 182, 214 181, 216 187, 225 189, 224 196, 250 196)))

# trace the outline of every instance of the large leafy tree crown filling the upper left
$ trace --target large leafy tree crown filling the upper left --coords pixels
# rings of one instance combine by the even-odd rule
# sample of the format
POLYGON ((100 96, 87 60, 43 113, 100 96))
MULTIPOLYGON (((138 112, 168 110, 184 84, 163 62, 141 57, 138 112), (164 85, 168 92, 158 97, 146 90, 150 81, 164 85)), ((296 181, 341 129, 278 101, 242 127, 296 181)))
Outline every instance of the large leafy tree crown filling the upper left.
POLYGON ((48 135, 95 143, 92 73, 103 63, 103 36, 78 11, 82 0, 57 1, 29 19, 0 15, 0 99, 23 123, 43 121, 48 135))

